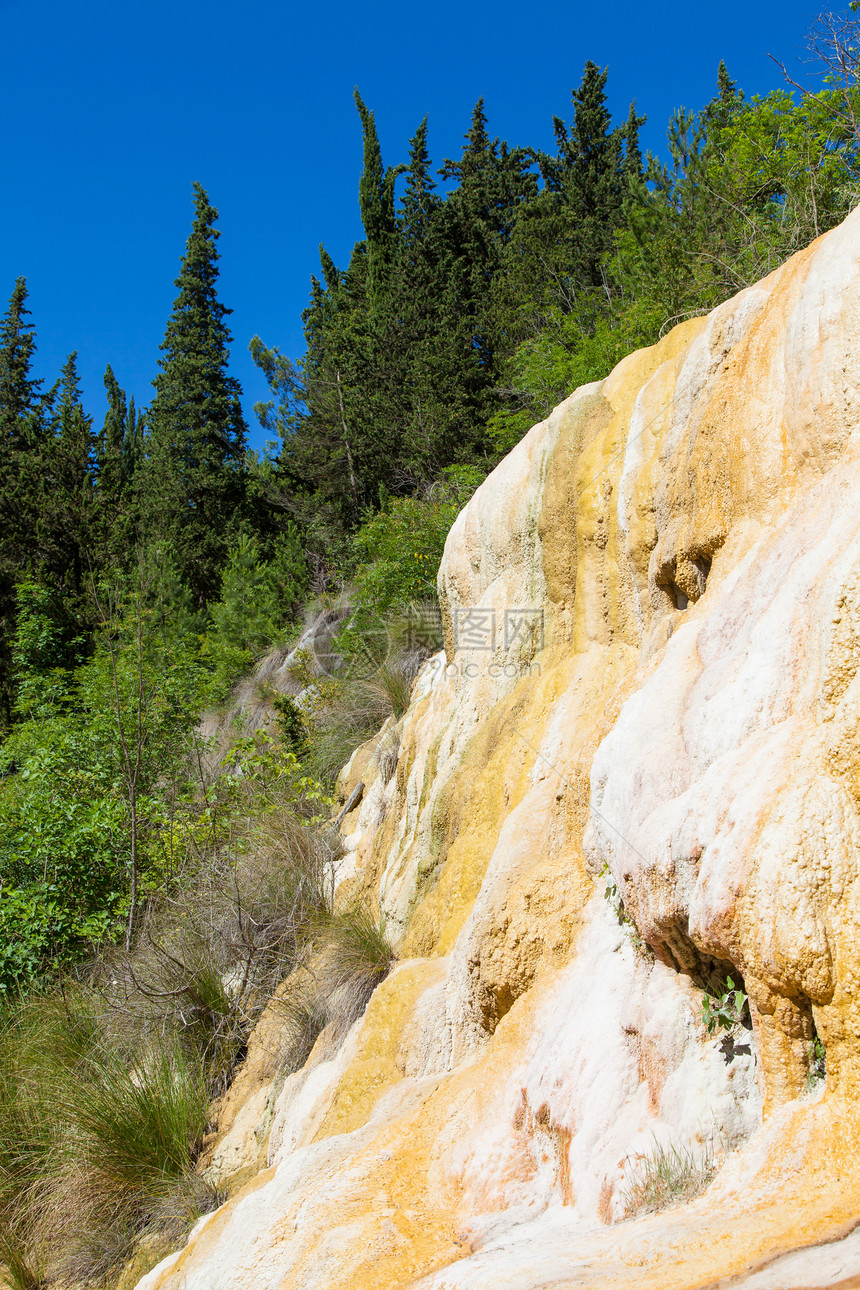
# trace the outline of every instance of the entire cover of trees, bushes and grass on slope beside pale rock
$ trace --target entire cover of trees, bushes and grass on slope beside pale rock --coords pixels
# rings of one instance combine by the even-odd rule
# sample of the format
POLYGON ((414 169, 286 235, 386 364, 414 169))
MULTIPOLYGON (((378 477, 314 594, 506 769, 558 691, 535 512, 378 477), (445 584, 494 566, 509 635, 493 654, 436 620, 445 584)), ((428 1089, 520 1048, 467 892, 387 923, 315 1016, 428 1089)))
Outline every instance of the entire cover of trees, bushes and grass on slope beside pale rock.
POLYGON ((147 409, 108 368, 97 428, 73 353, 43 388, 17 281, 0 324, 0 1262, 18 1290, 116 1284, 218 1204, 195 1167, 209 1107, 285 978, 285 1073, 361 1014, 393 949, 376 909, 334 899, 337 774, 440 645, 454 517, 575 386, 845 218, 857 103, 852 80, 748 99, 721 64, 660 161, 634 104, 610 120, 589 62, 553 154, 493 138, 478 102, 435 169, 427 120, 386 166, 356 93, 365 236, 343 268, 321 248, 298 361, 251 342, 263 455, 199 184, 147 409), (266 729, 222 722, 214 749, 201 716, 230 712, 322 609, 337 667, 297 650, 286 689, 259 682, 266 729))

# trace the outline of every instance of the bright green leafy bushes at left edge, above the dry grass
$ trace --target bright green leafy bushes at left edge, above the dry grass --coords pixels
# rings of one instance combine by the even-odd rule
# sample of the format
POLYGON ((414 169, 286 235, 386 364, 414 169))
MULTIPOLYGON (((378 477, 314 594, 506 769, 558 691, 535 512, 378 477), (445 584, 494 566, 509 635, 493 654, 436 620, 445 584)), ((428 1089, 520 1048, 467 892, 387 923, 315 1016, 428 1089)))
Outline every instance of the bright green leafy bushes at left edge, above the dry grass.
POLYGON ((0 747, 5 991, 116 934, 138 877, 160 881, 205 682, 196 641, 159 635, 139 604, 104 623, 89 662, 40 671, 55 635, 44 597, 26 590, 24 604, 15 657, 31 671, 0 747))

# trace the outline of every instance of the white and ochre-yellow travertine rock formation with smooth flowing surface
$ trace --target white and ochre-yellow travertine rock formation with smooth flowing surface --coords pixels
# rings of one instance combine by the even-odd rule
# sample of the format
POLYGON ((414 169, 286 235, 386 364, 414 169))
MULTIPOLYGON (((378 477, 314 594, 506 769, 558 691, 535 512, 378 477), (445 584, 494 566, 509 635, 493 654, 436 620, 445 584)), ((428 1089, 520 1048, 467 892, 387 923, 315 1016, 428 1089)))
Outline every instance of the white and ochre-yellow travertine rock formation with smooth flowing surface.
POLYGON ((860 212, 482 485, 396 771, 346 777, 398 966, 248 1075, 219 1158, 268 1167, 141 1290, 860 1284, 859 435, 860 212), (716 1180, 625 1216, 660 1148, 716 1180))

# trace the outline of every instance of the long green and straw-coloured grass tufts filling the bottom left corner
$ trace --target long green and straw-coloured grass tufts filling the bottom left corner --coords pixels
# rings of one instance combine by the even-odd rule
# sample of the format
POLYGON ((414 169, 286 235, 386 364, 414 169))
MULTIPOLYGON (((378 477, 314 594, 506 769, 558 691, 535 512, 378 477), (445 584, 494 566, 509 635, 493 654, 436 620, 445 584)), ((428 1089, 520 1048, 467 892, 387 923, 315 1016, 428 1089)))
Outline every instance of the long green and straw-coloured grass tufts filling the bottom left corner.
POLYGON ((80 986, 4 1020, 0 1258, 15 1290, 102 1285, 142 1235, 181 1238, 219 1202, 193 1175, 209 1102, 200 1066, 169 1038, 117 1044, 98 995, 80 986))

